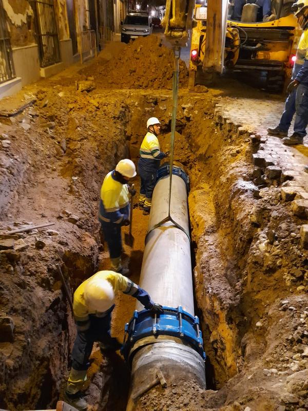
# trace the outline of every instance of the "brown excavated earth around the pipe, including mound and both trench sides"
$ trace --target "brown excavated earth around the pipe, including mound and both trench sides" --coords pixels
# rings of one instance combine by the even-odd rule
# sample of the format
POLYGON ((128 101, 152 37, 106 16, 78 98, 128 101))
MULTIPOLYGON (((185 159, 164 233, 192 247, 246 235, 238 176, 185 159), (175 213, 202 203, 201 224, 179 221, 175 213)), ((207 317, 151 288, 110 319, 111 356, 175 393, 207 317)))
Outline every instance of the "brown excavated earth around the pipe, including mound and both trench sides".
MULTIPOLYGON (((162 150, 169 148, 170 50, 151 40, 149 63, 147 41, 110 45, 86 67, 0 102, 1 408, 50 408, 62 395, 75 328, 56 264, 71 294, 93 272, 109 268, 97 219, 103 178, 121 158, 137 162, 148 117, 161 120, 162 150), (47 222, 54 225, 8 233, 47 222)), ((308 409, 304 220, 281 201, 279 182, 262 189, 253 183, 260 170, 252 164, 249 133, 214 118, 228 90, 188 92, 181 67, 175 160, 191 180, 195 296, 209 389, 194 381, 156 387, 139 409, 308 409)), ((124 264, 137 283, 147 221, 135 208, 135 244, 124 247, 124 264)), ((122 339, 134 300, 118 300, 112 334, 122 339)), ((120 354, 102 359, 94 349, 88 377, 92 409, 125 409, 129 370, 120 354)))

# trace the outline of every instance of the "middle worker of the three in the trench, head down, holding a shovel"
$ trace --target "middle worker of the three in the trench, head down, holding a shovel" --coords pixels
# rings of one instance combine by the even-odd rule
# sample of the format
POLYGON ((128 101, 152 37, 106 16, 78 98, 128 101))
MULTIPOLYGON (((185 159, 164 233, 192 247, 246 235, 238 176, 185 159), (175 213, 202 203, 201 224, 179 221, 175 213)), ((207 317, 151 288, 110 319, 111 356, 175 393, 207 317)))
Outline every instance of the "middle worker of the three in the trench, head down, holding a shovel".
POLYGON ((128 274, 122 267, 121 226, 129 225, 129 194, 136 192, 127 184, 136 176, 136 167, 129 159, 120 160, 115 170, 110 171, 101 188, 99 220, 107 241, 111 259, 111 270, 128 274))

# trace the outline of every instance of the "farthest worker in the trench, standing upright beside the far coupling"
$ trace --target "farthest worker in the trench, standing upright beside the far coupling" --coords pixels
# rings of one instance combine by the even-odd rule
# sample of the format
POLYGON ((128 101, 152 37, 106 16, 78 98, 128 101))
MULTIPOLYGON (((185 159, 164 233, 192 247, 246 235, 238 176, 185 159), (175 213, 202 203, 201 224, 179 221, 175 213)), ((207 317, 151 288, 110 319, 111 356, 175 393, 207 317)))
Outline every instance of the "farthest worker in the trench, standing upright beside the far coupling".
POLYGON ((152 194, 156 184, 156 172, 160 165, 160 160, 167 157, 169 153, 160 150, 158 136, 160 134, 160 121, 156 117, 151 117, 146 123, 147 134, 140 147, 140 159, 138 161, 138 171, 140 174, 140 197, 139 207, 143 209, 143 214, 150 214, 152 204, 152 194))

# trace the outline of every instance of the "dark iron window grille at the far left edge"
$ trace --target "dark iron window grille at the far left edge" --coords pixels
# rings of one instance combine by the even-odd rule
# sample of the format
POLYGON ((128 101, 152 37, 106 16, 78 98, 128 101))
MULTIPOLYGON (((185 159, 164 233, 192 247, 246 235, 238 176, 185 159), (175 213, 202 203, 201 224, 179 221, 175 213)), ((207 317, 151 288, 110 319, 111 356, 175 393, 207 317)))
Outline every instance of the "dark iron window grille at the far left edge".
POLYGON ((0 0, 0 83, 15 78, 10 36, 6 24, 6 15, 0 0))

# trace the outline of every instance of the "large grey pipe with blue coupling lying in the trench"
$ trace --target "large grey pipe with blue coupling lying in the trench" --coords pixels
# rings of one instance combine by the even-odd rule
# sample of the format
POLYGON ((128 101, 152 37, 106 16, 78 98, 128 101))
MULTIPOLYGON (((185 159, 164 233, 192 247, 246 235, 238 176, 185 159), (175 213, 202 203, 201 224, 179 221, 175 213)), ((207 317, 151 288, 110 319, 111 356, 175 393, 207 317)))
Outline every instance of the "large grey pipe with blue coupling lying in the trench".
POLYGON ((183 178, 187 176, 178 167, 174 170, 170 216, 175 223, 159 224, 168 216, 166 169, 153 192, 140 278, 140 286, 164 306, 164 314, 152 319, 137 303, 126 326, 128 340, 123 351, 132 377, 127 411, 138 408, 136 393, 156 378, 158 368, 168 385, 194 379, 205 387, 202 336, 194 316, 187 181, 183 178))

